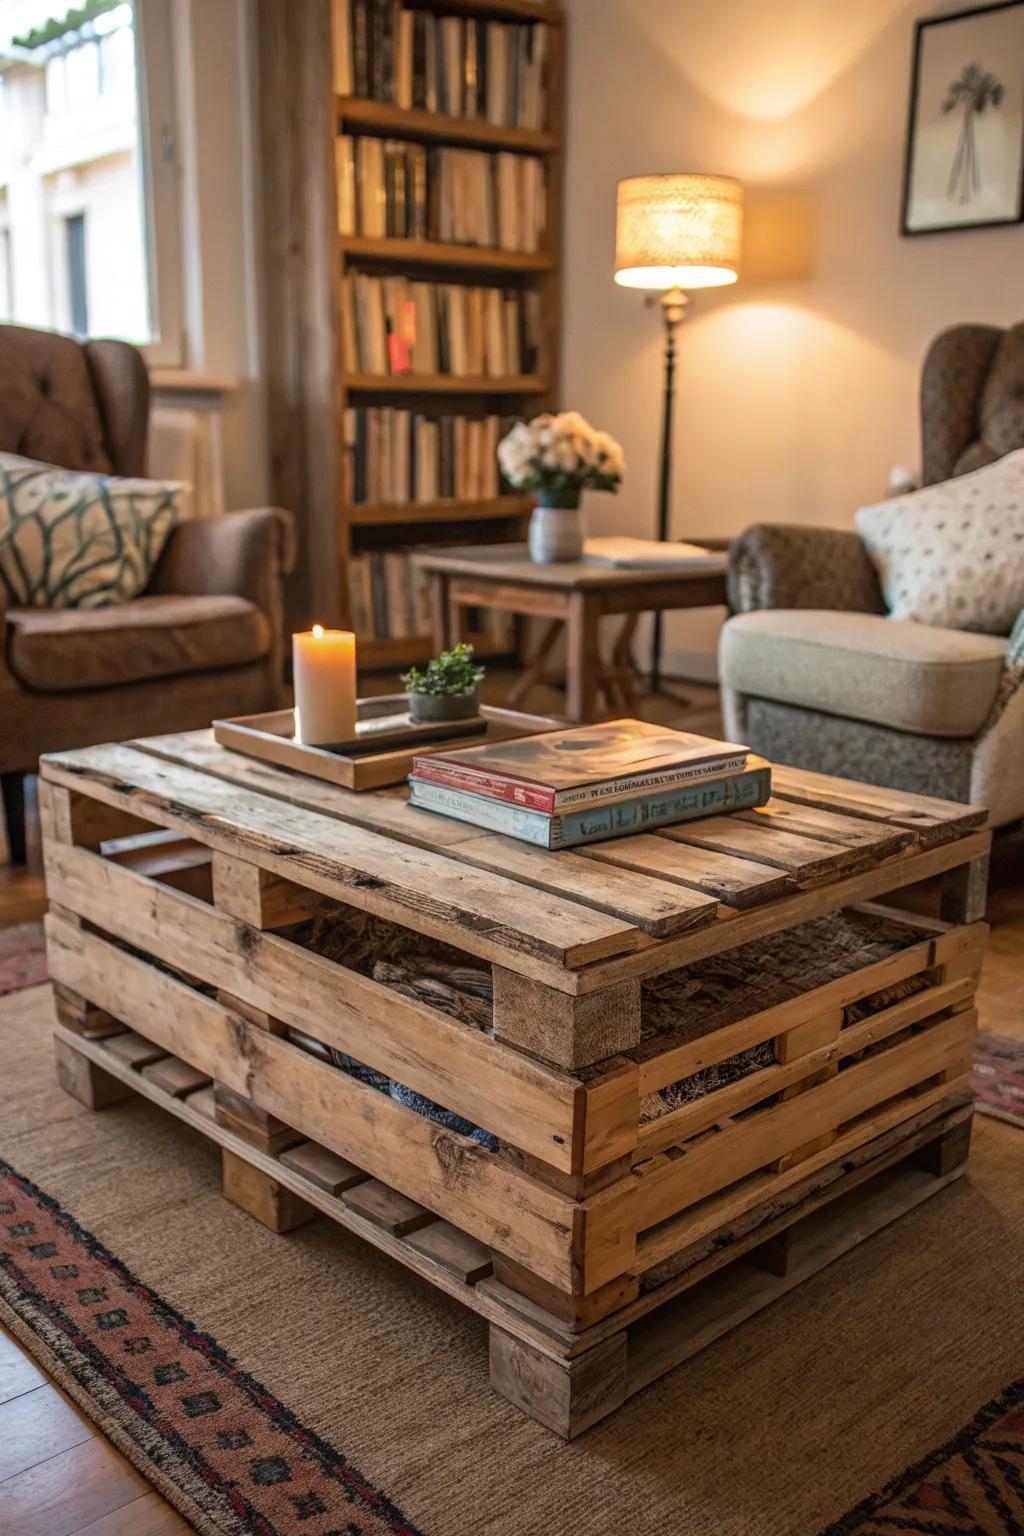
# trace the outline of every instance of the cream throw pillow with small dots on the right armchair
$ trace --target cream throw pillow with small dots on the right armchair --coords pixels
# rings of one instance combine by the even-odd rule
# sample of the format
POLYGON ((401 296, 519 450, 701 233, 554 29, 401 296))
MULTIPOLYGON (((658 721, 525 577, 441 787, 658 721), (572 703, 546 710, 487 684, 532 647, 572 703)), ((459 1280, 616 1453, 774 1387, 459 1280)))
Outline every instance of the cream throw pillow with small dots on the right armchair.
POLYGON ((857 513, 890 619, 1009 634, 1024 610, 1024 449, 857 513))

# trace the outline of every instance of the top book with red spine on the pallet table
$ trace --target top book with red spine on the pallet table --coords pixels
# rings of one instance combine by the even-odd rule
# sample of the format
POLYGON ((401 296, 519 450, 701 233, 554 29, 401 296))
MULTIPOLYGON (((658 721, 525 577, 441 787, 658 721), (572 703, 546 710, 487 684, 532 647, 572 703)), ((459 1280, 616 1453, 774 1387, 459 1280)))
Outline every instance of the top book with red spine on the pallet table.
POLYGON ((550 816, 735 774, 746 766, 746 757, 748 748, 734 742, 645 720, 605 720, 416 757, 413 774, 550 816))

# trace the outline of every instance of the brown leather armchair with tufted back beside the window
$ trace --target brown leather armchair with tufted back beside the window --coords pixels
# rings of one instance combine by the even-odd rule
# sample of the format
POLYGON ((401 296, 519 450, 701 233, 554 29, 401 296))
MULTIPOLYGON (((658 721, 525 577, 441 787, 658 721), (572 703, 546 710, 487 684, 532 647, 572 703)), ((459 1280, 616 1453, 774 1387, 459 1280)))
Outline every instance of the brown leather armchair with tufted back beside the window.
MULTIPOLYGON (((0 452, 144 475, 147 424, 135 347, 0 326, 0 452)), ((281 705, 292 564, 292 519, 259 508, 183 522, 146 593, 121 607, 17 608, 0 582, 0 782, 15 863, 25 774, 41 753, 281 705)))

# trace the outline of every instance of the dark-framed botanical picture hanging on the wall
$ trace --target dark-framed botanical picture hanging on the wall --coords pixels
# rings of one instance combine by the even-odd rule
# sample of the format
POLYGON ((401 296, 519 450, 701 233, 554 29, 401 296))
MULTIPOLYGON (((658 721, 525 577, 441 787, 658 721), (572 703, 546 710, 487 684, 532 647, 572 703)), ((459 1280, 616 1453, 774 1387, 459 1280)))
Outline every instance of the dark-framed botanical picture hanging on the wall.
POLYGON ((1024 0, 917 23, 904 235, 1024 218, 1024 0))

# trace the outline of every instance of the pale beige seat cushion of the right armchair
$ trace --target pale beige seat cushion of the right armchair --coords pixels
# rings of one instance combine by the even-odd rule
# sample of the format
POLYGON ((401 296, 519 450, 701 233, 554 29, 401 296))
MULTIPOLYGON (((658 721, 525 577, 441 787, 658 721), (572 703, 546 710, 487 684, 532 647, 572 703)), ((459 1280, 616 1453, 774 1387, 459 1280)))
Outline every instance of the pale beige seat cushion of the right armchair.
POLYGON ((923 736, 973 736, 1007 642, 867 613, 775 610, 729 619, 722 684, 738 694, 923 736))

